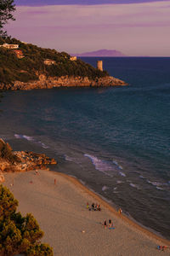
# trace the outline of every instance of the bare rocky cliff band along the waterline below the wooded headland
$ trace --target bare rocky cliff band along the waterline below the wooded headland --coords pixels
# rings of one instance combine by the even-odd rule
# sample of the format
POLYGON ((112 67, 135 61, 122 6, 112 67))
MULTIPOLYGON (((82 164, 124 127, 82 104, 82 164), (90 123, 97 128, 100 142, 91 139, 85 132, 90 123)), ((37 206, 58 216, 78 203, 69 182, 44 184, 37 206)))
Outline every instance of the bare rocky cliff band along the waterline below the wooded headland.
POLYGON ((32 89, 51 89, 54 87, 108 87, 127 85, 120 79, 107 76, 104 78, 88 79, 88 77, 46 77, 39 75, 37 81, 27 83, 14 81, 12 84, 0 84, 1 90, 32 90, 32 89))

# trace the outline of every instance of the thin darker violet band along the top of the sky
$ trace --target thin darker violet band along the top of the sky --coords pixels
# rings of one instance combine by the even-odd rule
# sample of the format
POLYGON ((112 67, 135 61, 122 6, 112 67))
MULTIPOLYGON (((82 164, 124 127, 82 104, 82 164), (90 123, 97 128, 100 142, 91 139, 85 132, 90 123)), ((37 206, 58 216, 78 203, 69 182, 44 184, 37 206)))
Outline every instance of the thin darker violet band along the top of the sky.
MULTIPOLYGON (((94 5, 94 4, 127 4, 127 3, 153 3, 160 0, 15 0, 15 3, 20 6, 46 6, 46 5, 94 5)), ((167 2, 162 0, 161 2, 167 2)))

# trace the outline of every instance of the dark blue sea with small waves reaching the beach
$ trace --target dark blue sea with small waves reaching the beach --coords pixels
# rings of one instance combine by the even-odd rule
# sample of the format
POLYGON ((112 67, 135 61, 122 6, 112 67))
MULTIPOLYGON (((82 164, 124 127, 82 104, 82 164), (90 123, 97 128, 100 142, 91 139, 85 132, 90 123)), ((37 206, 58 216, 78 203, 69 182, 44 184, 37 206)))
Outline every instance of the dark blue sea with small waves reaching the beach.
POLYGON ((3 92, 0 137, 170 239, 170 58, 98 60, 128 86, 3 92))

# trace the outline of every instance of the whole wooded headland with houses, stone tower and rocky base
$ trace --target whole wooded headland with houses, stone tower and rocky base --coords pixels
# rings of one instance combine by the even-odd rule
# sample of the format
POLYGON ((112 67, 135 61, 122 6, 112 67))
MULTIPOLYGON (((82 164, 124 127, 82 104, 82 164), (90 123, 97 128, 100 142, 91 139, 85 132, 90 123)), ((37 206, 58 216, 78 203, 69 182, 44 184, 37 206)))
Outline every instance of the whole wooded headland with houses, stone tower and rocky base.
POLYGON ((127 85, 103 70, 102 61, 93 67, 77 56, 15 38, 0 38, 0 60, 0 90, 127 85))

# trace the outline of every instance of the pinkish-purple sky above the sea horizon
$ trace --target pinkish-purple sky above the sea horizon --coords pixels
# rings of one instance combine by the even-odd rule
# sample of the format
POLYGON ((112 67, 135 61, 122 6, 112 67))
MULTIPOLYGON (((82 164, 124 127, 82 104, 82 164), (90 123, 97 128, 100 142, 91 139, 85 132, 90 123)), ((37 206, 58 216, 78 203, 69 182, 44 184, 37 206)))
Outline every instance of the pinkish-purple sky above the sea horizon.
POLYGON ((15 0, 14 38, 68 53, 170 56, 170 0, 15 0))

